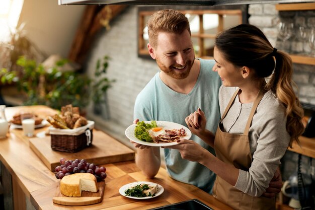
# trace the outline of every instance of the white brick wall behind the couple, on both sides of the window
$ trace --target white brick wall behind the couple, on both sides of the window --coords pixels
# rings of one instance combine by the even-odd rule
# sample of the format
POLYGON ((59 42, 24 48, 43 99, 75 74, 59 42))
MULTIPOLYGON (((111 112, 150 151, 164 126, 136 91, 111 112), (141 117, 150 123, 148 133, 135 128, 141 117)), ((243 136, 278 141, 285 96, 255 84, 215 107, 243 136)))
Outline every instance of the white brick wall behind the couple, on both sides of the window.
MULTIPOLYGON (((272 4, 250 5, 249 13, 250 24, 263 30, 271 44, 275 46, 276 24, 279 20, 275 6, 272 4)), ((124 131, 133 121, 134 100, 145 84, 159 71, 154 60, 137 57, 136 6, 130 6, 117 17, 111 23, 109 31, 102 30, 91 49, 86 66, 88 75, 93 74, 98 58, 109 55, 112 59, 109 62, 107 76, 109 79, 115 79, 116 83, 108 91, 111 118, 105 120, 102 116, 95 116, 92 105, 88 109, 88 117, 96 121, 97 128, 130 145, 124 131)), ((296 69, 294 80, 299 87, 300 100, 315 104, 314 65, 294 64, 294 68, 296 69)))

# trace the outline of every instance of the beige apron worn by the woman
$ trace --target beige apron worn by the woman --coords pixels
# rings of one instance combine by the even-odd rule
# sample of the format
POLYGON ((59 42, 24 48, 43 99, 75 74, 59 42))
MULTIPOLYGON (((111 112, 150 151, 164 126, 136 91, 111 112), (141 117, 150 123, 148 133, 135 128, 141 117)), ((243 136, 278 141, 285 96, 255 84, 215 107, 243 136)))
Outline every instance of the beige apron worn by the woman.
MULTIPOLYGON (((249 171, 252 164, 252 154, 250 151, 248 133, 254 113, 260 100, 264 96, 264 92, 262 90, 259 91, 243 134, 223 132, 220 128, 221 122, 238 93, 239 89, 232 96, 219 122, 219 126, 215 134, 214 150, 216 157, 224 163, 232 164, 235 168, 249 171)), ((213 196, 230 205, 234 209, 259 210, 275 209, 276 207, 274 198, 250 196, 234 188, 219 176, 216 177, 214 183, 213 196)))

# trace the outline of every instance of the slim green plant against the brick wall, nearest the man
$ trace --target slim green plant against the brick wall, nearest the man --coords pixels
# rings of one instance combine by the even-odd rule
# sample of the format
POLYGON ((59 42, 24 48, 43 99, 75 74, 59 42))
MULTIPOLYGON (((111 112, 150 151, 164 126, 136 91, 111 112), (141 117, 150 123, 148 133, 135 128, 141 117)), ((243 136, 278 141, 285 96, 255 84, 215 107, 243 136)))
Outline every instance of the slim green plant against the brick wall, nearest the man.
POLYGON ((92 100, 94 102, 94 113, 102 114, 105 119, 109 118, 109 109, 107 104, 107 90, 112 86, 115 80, 109 80, 106 77, 108 61, 110 57, 105 55, 103 59, 98 59, 92 82, 92 100))

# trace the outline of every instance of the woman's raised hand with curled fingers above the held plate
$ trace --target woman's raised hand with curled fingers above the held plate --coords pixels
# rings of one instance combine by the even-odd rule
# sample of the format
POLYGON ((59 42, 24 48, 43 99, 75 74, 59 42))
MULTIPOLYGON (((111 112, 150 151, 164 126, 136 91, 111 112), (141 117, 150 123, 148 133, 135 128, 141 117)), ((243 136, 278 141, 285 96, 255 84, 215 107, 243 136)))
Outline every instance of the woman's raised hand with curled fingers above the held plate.
POLYGON ((206 129, 207 119, 204 112, 201 111, 200 108, 198 108, 197 111, 191 113, 185 118, 185 122, 192 133, 200 136, 200 134, 204 133, 206 129))

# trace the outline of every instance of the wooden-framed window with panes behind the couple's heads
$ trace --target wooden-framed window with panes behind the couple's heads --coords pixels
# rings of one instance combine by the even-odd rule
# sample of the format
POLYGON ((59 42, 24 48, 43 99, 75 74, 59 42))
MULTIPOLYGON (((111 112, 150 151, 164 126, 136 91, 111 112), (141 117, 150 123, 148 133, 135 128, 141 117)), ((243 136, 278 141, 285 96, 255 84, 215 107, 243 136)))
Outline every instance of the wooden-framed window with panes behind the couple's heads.
MULTIPOLYGON (((205 7, 203 7, 205 8, 205 7)), ((138 56, 149 57, 147 50, 148 34, 146 23, 157 10, 165 8, 138 8, 138 56)), ((185 14, 190 23, 190 30, 196 57, 211 58, 213 56, 214 39, 218 32, 247 23, 247 6, 220 6, 205 10, 177 9, 185 14), (214 9, 215 8, 215 9, 214 9)))

